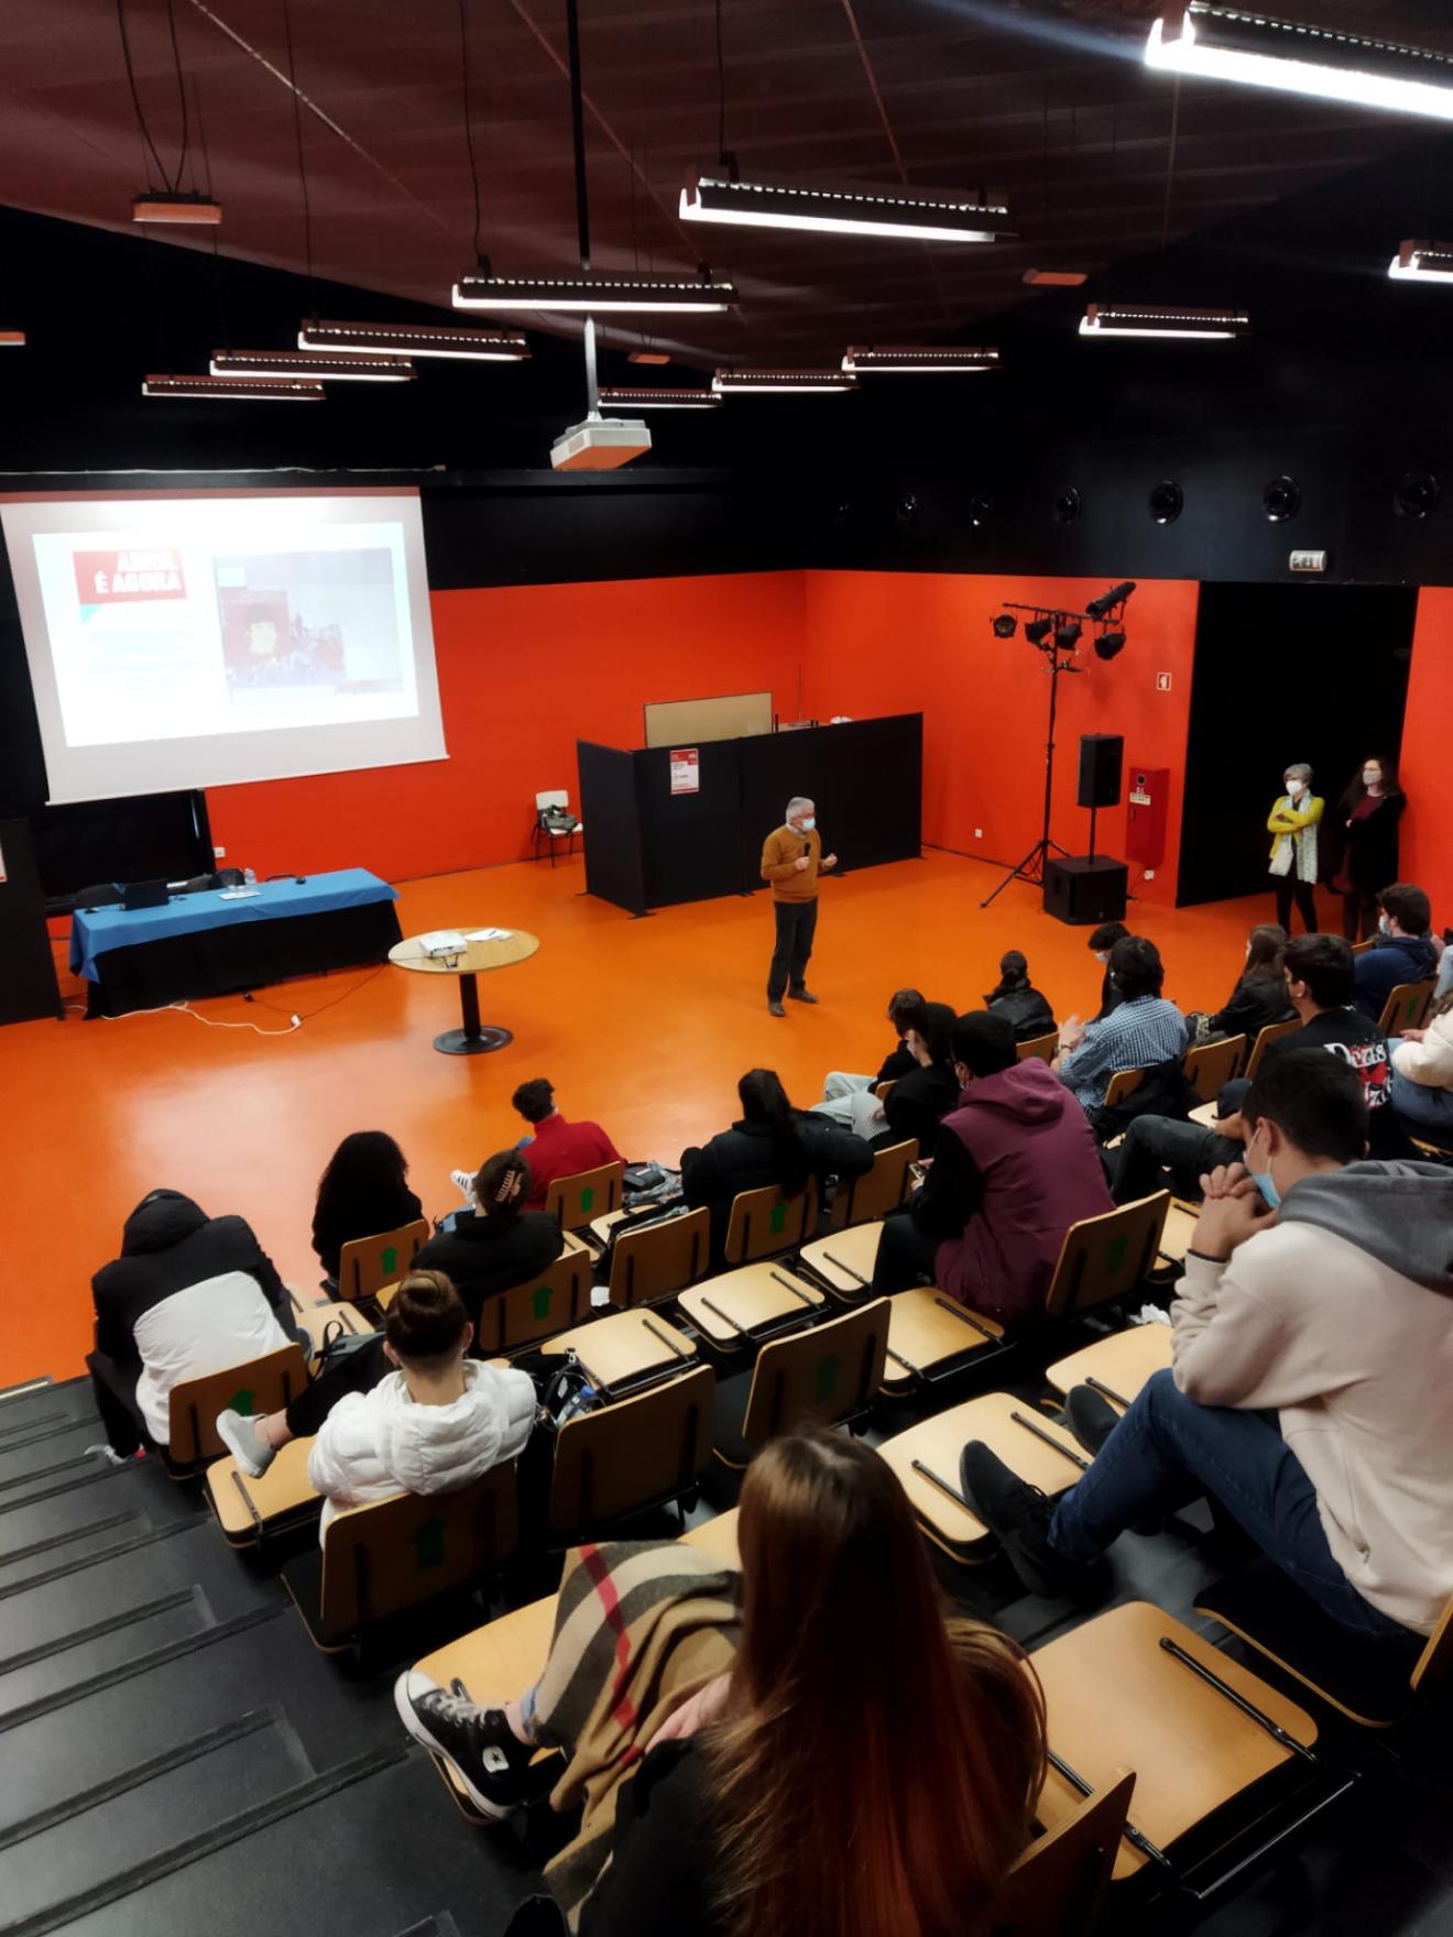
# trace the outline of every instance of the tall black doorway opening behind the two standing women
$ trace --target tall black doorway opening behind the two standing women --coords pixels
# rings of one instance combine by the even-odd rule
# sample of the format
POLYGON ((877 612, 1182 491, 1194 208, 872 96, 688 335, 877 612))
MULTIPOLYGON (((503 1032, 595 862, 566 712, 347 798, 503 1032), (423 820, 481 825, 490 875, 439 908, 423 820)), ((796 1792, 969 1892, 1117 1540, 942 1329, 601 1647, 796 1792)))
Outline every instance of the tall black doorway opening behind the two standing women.
POLYGON ((1416 608, 1408 585, 1201 587, 1182 905, 1267 887, 1267 815, 1292 761, 1314 767, 1331 819, 1368 753, 1397 755, 1416 608))

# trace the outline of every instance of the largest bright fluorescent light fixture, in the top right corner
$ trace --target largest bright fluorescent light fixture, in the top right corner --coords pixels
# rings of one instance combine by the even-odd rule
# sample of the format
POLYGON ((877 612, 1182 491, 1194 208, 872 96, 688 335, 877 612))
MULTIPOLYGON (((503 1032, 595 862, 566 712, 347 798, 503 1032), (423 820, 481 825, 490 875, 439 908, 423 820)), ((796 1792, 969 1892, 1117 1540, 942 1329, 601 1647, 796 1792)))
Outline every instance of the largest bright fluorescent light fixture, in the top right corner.
POLYGON ((1151 25, 1145 64, 1364 108, 1453 120, 1453 58, 1188 0, 1151 25))

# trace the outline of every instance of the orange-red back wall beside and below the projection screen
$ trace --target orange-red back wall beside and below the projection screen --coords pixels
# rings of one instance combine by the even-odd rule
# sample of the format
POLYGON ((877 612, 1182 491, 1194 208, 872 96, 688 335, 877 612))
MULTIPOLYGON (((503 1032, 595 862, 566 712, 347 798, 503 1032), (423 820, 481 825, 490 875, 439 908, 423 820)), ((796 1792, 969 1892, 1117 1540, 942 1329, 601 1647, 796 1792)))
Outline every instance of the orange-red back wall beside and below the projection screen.
POLYGON ((577 800, 575 740, 641 746, 643 701, 769 690, 790 713, 802 600, 800 571, 434 593, 449 757, 215 786, 213 841, 260 876, 519 860, 537 790, 577 800))

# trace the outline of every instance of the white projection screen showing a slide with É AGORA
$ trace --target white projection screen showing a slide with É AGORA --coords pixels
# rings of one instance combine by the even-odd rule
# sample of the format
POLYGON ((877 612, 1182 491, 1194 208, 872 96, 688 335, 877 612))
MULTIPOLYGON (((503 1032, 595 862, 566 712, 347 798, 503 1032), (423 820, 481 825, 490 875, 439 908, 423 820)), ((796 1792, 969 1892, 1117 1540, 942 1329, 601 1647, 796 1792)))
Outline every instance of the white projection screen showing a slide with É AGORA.
POLYGON ((50 800, 444 757, 415 494, 0 506, 50 800))

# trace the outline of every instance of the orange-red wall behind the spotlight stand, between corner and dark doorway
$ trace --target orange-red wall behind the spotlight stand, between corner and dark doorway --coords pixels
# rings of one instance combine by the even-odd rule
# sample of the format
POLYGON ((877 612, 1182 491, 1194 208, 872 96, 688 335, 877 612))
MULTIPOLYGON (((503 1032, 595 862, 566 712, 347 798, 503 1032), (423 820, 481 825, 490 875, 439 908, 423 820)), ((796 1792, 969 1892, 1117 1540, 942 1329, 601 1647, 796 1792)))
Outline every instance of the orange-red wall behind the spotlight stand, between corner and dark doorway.
MULTIPOLYGON (((1042 657, 1023 633, 996 639, 990 618, 1005 599, 1083 610, 1102 591, 1098 579, 810 571, 806 709, 818 719, 922 709, 924 841, 1007 866, 1040 833, 1050 695, 1042 657)), ((1131 891, 1162 905, 1176 899, 1197 593, 1193 581, 1141 579, 1124 653, 1098 661, 1085 628, 1079 662, 1087 670, 1060 680, 1050 835, 1071 854, 1085 852, 1089 814, 1075 806, 1079 734, 1124 734, 1128 763, 1170 767, 1164 860, 1155 881, 1131 872, 1131 891), (1170 674, 1168 693, 1157 690, 1159 672, 1170 674)), ((1124 854, 1124 833, 1126 810, 1110 808, 1100 814, 1097 846, 1124 854)))

